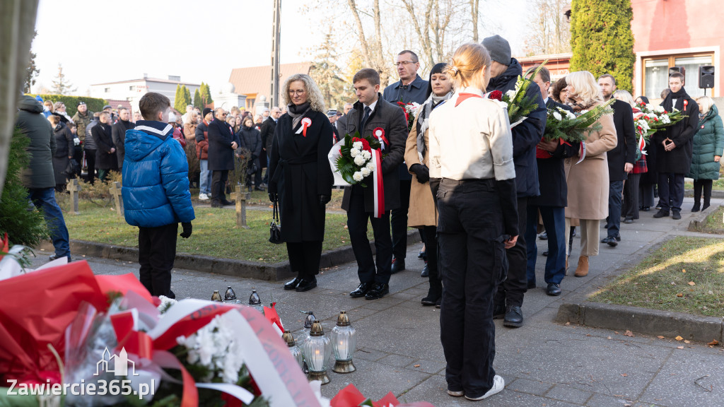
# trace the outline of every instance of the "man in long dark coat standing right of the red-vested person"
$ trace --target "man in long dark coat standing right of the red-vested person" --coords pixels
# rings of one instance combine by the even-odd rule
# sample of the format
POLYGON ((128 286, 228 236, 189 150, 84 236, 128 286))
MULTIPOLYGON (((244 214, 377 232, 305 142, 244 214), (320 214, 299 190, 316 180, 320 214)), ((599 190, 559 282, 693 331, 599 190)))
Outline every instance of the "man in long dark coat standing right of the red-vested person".
POLYGON ((222 107, 214 110, 214 120, 209 123, 209 171, 211 175, 211 207, 232 205, 227 201, 224 189, 229 171, 234 169, 234 150, 238 147, 234 133, 226 122, 227 112, 222 107))

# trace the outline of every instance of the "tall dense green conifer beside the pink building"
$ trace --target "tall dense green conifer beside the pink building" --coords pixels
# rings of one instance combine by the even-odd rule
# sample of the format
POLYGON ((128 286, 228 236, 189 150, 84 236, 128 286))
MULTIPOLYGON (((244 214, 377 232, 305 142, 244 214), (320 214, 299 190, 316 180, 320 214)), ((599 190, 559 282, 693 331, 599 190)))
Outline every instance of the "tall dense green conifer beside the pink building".
POLYGON ((595 77, 613 75, 619 89, 633 88, 631 0, 571 2, 571 72, 586 70, 595 77))

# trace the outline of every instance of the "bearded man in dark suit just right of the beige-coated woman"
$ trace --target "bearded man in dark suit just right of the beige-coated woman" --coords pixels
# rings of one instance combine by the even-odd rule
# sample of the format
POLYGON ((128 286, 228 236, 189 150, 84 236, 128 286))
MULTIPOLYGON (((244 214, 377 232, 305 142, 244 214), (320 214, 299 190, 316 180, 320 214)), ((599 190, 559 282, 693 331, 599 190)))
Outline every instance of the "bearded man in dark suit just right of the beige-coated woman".
MULTIPOLYGON (((616 80, 612 75, 601 75, 598 78, 603 98, 608 101, 616 91, 616 80)), ((615 247, 621 240, 621 193, 626 175, 633 170, 636 162, 636 129, 633 127, 633 109, 624 101, 614 101, 613 124, 616 127, 618 143, 613 150, 606 153, 608 159, 608 235, 601 240, 608 246, 615 247)))

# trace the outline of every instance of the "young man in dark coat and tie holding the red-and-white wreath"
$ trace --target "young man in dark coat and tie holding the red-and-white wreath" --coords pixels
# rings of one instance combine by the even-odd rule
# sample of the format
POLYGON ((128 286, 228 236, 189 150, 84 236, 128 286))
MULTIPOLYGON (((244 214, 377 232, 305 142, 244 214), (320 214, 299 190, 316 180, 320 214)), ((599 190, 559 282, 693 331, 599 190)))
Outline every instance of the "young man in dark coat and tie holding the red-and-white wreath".
POLYGON ((368 188, 352 185, 345 188, 342 209, 347 211, 347 227, 350 232, 352 250, 357 259, 357 273, 360 278, 358 288, 350 293, 353 298, 365 297, 368 300, 382 298, 390 292, 390 272, 392 268, 392 239, 390 238, 390 210, 400 207, 400 179, 397 167, 403 161, 405 141, 407 140, 407 122, 399 106, 391 104, 379 94, 379 73, 365 68, 353 77, 355 93, 359 99, 354 109, 345 116, 341 124, 340 135, 355 134, 377 137, 373 130, 381 129, 382 137, 382 175, 384 184, 384 213, 374 217, 374 191, 371 180, 367 178, 368 188), (367 239, 367 222, 374 231, 375 261, 367 239))

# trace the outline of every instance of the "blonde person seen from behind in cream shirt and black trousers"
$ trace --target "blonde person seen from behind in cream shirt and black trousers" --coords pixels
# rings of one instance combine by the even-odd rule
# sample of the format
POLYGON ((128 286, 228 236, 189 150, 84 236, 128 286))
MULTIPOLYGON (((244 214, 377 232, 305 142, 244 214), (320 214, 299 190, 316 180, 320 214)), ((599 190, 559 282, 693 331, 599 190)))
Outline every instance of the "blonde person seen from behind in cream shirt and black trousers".
POLYGON ((429 119, 447 394, 469 400, 482 400, 505 387, 492 367, 493 295, 505 280, 505 249, 518 240, 510 122, 505 109, 483 97, 490 65, 481 44, 460 46, 445 70, 455 93, 429 119))

